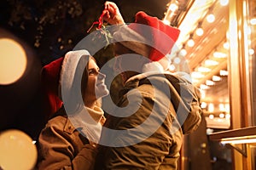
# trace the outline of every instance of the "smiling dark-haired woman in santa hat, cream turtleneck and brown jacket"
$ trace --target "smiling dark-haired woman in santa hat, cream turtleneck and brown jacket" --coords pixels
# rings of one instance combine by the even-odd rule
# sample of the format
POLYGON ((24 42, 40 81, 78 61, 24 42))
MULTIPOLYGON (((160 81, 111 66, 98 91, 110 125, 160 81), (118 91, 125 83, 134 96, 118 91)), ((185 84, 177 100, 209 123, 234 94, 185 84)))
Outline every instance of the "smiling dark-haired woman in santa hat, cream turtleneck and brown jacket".
MULTIPOLYGON (((39 135, 37 167, 44 170, 93 169, 96 142, 105 122, 99 105, 99 99, 108 95, 105 75, 86 50, 78 50, 44 66, 44 82, 52 77, 59 77, 59 93, 55 96, 52 92, 56 89, 48 91, 54 108, 51 111, 60 100, 63 104, 39 135)), ((54 87, 50 82, 47 86, 54 87)))

